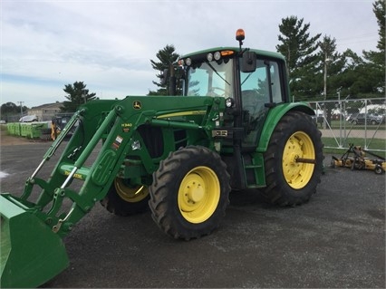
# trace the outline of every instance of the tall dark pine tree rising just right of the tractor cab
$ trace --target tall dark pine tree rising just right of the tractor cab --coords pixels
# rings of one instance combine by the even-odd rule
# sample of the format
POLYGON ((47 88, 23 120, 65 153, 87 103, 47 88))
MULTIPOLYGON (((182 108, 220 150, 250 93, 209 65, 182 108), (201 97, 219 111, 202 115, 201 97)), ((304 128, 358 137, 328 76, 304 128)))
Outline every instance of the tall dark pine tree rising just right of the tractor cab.
POLYGON ((310 78, 317 73, 315 63, 318 56, 315 51, 319 47, 317 41, 321 34, 311 37, 309 28, 310 24, 304 24, 303 18, 283 18, 282 24, 279 24, 281 35, 278 35, 281 44, 276 45, 277 52, 285 55, 291 92, 301 98, 314 93, 314 80, 310 78))

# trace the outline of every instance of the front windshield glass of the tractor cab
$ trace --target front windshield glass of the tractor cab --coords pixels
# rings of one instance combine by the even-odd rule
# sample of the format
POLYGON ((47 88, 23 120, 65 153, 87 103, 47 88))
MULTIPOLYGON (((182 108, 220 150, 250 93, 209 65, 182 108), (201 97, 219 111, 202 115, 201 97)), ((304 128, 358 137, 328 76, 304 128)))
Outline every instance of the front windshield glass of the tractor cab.
POLYGON ((233 62, 230 59, 199 63, 188 68, 188 96, 233 95, 233 62))

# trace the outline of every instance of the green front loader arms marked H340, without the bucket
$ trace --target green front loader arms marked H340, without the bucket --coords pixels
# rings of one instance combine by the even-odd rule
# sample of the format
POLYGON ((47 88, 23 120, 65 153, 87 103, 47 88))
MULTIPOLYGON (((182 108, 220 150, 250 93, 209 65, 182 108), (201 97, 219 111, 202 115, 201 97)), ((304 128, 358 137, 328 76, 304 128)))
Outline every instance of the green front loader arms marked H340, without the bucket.
MULTIPOLYGON (((146 110, 154 106, 154 101, 146 98, 142 100, 142 97, 136 99, 140 99, 142 110, 134 108, 132 103, 135 101, 131 97, 115 103, 111 101, 90 102, 82 107, 74 116, 81 121, 81 124, 64 149, 61 159, 53 169, 51 178, 48 181, 37 178, 35 171, 32 177, 27 179, 22 197, 14 197, 10 194, 3 194, 3 197, 34 213, 42 219, 44 224, 51 226, 53 232, 59 236, 65 236, 96 202, 105 197, 124 159, 133 153, 132 144, 136 140, 133 135, 140 125, 203 130, 210 134, 212 126, 207 122, 213 122, 210 117, 217 118, 218 109, 210 111, 214 102, 211 98, 190 98, 190 100, 185 98, 183 102, 176 104, 174 109, 170 108, 169 101, 165 101, 165 105, 157 104, 160 106, 157 111, 146 110), (170 120, 173 116, 189 113, 208 116, 208 118, 200 118, 206 123, 202 125, 194 121, 170 120), (96 159, 91 166, 86 166, 86 161, 90 159, 99 143, 101 143, 101 149, 96 159), (79 191, 69 188, 74 178, 83 181, 79 191), (36 204, 33 204, 27 198, 30 197, 35 185, 43 190, 36 204), (63 200, 66 198, 71 200, 72 207, 67 213, 60 213, 63 210, 63 200)), ((69 125, 73 122, 70 121, 69 125)), ((39 167, 52 157, 63 138, 64 134, 62 138, 60 136, 55 140, 53 146, 44 155, 39 167)), ((147 174, 157 169, 157 164, 151 161, 149 154, 140 153, 140 158, 143 160, 147 174)))

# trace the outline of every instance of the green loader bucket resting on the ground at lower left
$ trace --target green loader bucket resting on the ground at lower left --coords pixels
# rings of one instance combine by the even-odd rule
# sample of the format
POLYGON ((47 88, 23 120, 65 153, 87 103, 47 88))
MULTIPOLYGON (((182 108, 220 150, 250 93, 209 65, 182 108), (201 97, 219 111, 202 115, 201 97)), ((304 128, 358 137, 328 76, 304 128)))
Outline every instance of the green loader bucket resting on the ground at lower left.
POLYGON ((0 195, 1 288, 37 287, 69 264, 62 238, 22 207, 0 195))

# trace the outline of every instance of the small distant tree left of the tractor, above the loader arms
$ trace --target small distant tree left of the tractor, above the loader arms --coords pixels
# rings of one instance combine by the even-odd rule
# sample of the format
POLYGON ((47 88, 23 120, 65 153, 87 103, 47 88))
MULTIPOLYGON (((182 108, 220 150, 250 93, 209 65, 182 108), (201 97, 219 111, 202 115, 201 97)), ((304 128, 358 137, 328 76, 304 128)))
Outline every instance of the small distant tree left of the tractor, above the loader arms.
POLYGON ((86 84, 83 82, 73 82, 73 85, 66 84, 63 91, 68 93, 68 95, 64 96, 68 101, 63 101, 63 107, 61 108, 63 112, 76 111, 82 103, 94 100, 96 94, 93 92, 89 93, 89 90, 86 89, 86 84))

